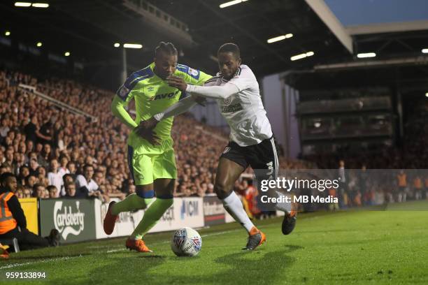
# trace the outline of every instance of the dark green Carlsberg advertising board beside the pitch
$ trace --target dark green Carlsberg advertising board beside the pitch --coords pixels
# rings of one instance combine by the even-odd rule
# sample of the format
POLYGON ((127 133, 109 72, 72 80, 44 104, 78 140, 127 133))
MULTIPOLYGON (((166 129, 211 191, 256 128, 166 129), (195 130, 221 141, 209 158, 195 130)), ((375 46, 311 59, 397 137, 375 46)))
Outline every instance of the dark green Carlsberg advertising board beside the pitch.
POLYGON ((62 243, 94 240, 94 200, 41 199, 40 228, 43 237, 56 228, 62 243))

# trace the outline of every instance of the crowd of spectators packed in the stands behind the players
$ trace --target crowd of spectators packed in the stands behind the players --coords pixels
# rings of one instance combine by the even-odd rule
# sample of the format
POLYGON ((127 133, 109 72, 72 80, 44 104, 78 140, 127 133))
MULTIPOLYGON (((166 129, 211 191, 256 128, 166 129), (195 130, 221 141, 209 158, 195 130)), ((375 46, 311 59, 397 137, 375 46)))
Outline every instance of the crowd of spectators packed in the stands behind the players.
MULTIPOLYGON (((112 97, 112 92, 80 85, 73 80, 38 82, 30 75, 0 71, 0 174, 17 175, 19 198, 95 197, 108 202, 110 198, 123 199, 134 193, 126 155, 129 130, 111 114, 112 97), (97 117, 97 121, 61 110, 18 87, 21 83, 83 110, 97 117)), ((423 119, 427 114, 425 106, 420 113, 408 118, 405 139, 408 143, 401 149, 384 149, 376 156, 341 156, 346 168, 423 168, 421 163, 428 159, 423 143, 428 138, 428 126, 423 119)), ((188 116, 176 117, 172 133, 178 166, 174 195, 212 194, 218 156, 227 143, 227 135, 188 116)), ((331 154, 318 154, 306 161, 280 158, 280 168, 337 169, 338 160, 338 156, 331 154)), ((325 193, 339 196, 340 207, 427 196, 428 177, 423 175, 406 177, 405 186, 397 178, 389 183, 366 185, 364 189, 358 179, 357 175, 350 175, 346 191, 325 193), (414 189, 420 185, 419 194, 414 189), (401 189, 402 193, 396 189, 401 189)), ((241 193, 249 211, 257 217, 257 191, 251 182, 245 179, 236 182, 235 190, 241 193)))

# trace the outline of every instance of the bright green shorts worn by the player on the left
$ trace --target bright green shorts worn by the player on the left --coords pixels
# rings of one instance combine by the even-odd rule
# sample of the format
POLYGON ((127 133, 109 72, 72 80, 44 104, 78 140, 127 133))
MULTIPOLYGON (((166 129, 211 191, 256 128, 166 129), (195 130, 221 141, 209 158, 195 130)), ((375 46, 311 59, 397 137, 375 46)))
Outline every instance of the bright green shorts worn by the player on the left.
POLYGON ((152 184, 158 178, 176 179, 173 140, 162 140, 157 146, 148 142, 138 147, 128 145, 128 166, 135 185, 152 184))

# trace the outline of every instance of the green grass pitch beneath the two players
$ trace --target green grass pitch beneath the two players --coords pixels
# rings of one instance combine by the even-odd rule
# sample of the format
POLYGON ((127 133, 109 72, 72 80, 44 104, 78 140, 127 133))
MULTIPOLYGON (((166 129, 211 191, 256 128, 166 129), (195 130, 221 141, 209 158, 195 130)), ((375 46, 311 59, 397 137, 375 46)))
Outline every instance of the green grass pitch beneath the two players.
POLYGON ((22 251, 0 261, 0 283, 17 284, 6 272, 46 272, 18 283, 428 284, 428 211, 406 207, 300 214, 288 236, 281 219, 257 221, 267 242, 252 252, 241 251, 246 234, 236 223, 200 229, 193 258, 173 254, 171 233, 146 236, 152 254, 125 250, 124 238, 22 251))

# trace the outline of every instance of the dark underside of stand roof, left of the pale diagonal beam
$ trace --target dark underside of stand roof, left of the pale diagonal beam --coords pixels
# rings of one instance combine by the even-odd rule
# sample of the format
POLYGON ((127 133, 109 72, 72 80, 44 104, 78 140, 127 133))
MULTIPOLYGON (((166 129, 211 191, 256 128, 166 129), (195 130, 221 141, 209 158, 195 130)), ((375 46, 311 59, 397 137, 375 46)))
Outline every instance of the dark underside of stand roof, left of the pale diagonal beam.
POLYGON ((243 61, 259 76, 321 64, 349 53, 304 1, 251 0, 222 9, 219 5, 223 2, 151 1, 187 25, 190 44, 171 31, 154 27, 148 17, 126 6, 127 0, 56 0, 50 1, 47 9, 17 8, 14 1, 5 0, 0 2, 0 25, 12 30, 19 41, 42 41, 44 48, 57 53, 71 50, 76 60, 104 66, 120 61, 120 53, 113 47, 116 42, 144 45, 143 50, 129 52, 131 68, 147 64, 153 48, 163 40, 178 45, 182 61, 210 72, 217 70, 212 60, 217 48, 235 42, 241 47, 243 61), (283 34, 293 37, 266 43, 283 34), (315 56, 290 60, 311 51, 315 56))

